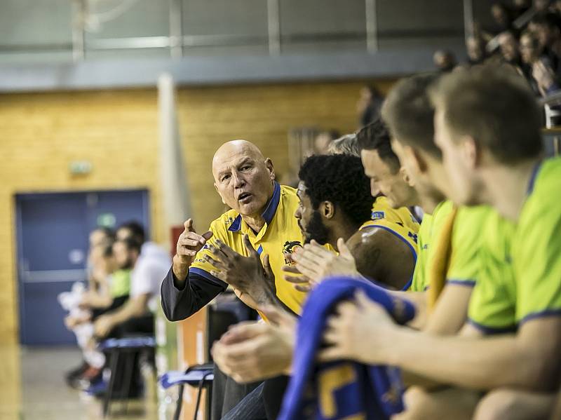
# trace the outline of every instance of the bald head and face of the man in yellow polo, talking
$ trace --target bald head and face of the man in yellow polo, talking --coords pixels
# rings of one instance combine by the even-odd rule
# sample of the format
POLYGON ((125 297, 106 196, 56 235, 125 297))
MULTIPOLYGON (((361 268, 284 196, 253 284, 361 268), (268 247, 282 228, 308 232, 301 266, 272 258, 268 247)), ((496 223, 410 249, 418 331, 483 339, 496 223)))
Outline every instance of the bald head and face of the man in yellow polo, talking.
POLYGON ((212 175, 222 202, 242 216, 261 215, 273 196, 273 163, 245 140, 227 142, 218 149, 212 175))

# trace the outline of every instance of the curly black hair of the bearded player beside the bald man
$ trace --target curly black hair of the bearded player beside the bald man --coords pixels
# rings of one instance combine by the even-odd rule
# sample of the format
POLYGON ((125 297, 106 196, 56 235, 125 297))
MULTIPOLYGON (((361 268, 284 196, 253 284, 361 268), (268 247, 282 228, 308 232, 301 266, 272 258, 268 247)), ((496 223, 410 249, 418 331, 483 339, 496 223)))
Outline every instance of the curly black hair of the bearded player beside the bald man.
POLYGON ((357 156, 310 156, 302 164, 298 176, 306 185, 306 194, 315 210, 321 202, 330 201, 357 226, 370 219, 374 201, 370 195, 370 179, 357 156))

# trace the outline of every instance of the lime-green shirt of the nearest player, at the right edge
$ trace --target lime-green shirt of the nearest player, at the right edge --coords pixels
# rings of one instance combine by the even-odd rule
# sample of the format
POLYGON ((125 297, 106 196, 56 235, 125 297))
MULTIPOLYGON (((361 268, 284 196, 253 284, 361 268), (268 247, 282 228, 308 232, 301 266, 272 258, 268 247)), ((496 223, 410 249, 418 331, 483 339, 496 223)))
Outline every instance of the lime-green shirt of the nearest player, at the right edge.
POLYGON ((536 166, 515 233, 516 320, 561 316, 561 158, 536 166))

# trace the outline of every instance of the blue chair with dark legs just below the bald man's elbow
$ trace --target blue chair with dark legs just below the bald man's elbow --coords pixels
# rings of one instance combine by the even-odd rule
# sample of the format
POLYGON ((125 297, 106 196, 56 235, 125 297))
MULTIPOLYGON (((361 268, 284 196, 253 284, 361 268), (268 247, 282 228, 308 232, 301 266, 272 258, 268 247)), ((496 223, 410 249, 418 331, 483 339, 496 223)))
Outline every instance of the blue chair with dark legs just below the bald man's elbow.
POLYGON ((214 365, 212 363, 206 365, 193 365, 185 372, 172 370, 166 372, 160 377, 160 384, 164 389, 170 386, 179 385, 180 393, 177 398, 177 407, 175 407, 175 414, 173 420, 179 420, 181 408, 183 405, 183 390, 185 384, 198 387, 197 402, 195 405, 194 420, 197 418, 198 408, 201 405, 201 395, 203 388, 207 386, 209 394, 212 393, 212 381, 215 378, 214 365))

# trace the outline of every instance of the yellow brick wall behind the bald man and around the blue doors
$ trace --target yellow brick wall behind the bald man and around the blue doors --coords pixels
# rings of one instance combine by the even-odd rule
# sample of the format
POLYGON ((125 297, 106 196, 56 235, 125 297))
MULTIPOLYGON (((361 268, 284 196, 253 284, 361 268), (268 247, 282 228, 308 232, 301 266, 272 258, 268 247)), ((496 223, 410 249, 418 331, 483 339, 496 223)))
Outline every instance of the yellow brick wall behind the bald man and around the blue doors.
MULTIPOLYGON (((390 81, 377 83, 387 90, 390 81)), ((287 133, 298 126, 356 129, 363 83, 293 83, 181 88, 177 95, 193 216, 206 229, 222 210, 210 161, 227 140, 255 142, 288 167, 287 133)), ((0 344, 17 337, 14 194, 147 188, 156 241, 167 235, 158 184, 158 115, 154 89, 0 95, 0 344), (70 161, 93 171, 72 177, 70 161)))

